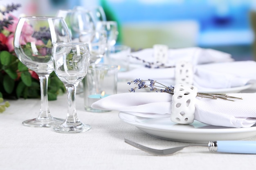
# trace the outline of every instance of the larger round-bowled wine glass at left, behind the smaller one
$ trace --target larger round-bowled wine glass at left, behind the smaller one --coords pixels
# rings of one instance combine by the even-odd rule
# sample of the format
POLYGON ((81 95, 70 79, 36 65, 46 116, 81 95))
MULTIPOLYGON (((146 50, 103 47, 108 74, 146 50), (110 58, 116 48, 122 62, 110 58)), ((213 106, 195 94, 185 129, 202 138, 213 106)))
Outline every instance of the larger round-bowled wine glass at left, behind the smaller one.
POLYGON ((22 17, 14 35, 14 50, 18 59, 38 74, 41 89, 41 107, 38 117, 23 121, 25 126, 50 127, 63 119, 52 117, 48 107, 47 84, 52 63, 52 43, 70 42, 70 33, 63 18, 22 17))

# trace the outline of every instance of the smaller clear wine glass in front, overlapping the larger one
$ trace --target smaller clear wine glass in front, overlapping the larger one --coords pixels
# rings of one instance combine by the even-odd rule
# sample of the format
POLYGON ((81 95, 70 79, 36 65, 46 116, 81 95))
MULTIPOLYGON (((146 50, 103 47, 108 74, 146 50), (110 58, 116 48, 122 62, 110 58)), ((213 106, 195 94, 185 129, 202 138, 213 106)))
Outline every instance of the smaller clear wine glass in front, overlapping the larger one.
POLYGON ((67 117, 62 124, 55 126, 60 133, 85 132, 91 128, 83 124, 76 114, 76 87, 85 77, 90 65, 90 52, 87 43, 54 43, 52 49, 54 71, 67 89, 67 117))

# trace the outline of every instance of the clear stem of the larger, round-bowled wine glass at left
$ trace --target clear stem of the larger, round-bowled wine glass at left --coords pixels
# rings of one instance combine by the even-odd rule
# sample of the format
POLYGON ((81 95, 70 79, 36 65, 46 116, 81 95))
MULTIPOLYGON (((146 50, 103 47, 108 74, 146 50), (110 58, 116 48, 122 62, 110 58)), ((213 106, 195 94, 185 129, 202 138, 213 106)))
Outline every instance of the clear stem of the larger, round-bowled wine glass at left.
POLYGON ((41 108, 40 108, 40 114, 38 116, 38 119, 42 119, 45 117, 52 117, 48 107, 48 95, 47 95, 49 75, 38 75, 38 77, 40 80, 40 90, 41 90, 41 108))

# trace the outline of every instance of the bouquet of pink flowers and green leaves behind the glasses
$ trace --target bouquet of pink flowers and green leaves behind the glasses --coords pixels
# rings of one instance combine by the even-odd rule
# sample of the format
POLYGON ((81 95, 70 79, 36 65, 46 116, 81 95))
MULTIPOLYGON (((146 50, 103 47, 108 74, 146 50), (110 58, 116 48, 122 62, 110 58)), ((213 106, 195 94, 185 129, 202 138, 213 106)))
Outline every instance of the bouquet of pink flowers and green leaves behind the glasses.
MULTIPOLYGON (((11 15, 11 12, 20 6, 20 4, 11 4, 7 7, 0 7, 0 98, 40 97, 38 75, 22 64, 14 52, 13 37, 19 19, 11 15)), ((22 43, 29 45, 27 42, 33 38, 38 44, 47 45, 47 42, 39 39, 42 35, 47 36, 47 30, 42 28, 41 32, 32 34, 31 26, 27 24, 24 35, 22 35, 24 36, 22 43)), ((54 72, 51 73, 48 83, 48 99, 56 100, 57 95, 63 92, 65 92, 63 83, 54 72)))

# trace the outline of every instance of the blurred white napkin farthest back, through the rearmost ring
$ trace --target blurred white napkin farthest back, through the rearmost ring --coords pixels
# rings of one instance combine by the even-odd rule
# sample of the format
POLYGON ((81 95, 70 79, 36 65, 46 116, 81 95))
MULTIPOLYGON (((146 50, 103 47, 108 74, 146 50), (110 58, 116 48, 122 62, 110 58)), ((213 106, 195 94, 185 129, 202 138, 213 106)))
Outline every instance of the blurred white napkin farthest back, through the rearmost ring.
MULTIPOLYGON (((132 52, 131 55, 134 57, 139 57, 141 60, 146 62, 154 62, 154 51, 153 49, 143 49, 141 51, 132 52)), ((200 47, 189 47, 181 49, 169 49, 168 50, 168 62, 165 63, 165 66, 174 66, 177 61, 188 61, 192 64, 206 64, 206 63, 215 63, 215 62, 232 62, 234 61, 231 58, 229 53, 224 53, 222 51, 217 51, 214 49, 202 49, 200 47)), ((130 59, 130 63, 145 64, 135 58, 130 59)))

